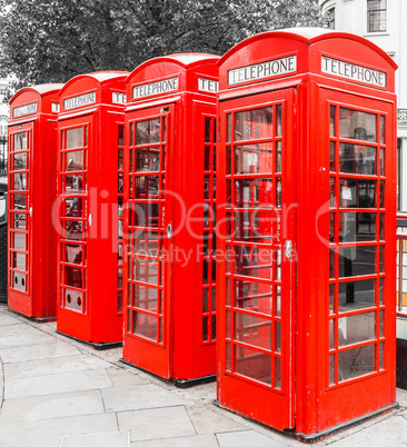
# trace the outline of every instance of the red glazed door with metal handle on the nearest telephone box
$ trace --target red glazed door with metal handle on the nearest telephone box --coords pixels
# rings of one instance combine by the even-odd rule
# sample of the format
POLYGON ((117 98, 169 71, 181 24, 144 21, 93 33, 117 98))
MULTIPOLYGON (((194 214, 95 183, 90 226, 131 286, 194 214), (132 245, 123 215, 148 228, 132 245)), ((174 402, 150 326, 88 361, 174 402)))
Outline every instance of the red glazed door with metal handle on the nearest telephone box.
POLYGON ((279 429, 295 425, 295 99, 220 103, 218 400, 279 429))

